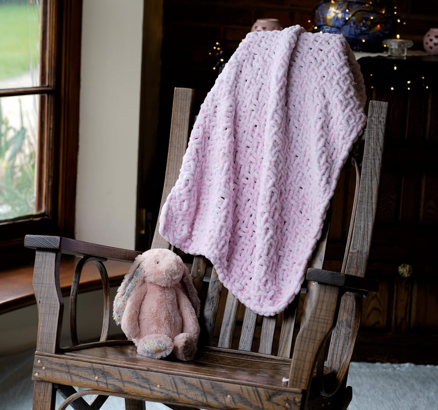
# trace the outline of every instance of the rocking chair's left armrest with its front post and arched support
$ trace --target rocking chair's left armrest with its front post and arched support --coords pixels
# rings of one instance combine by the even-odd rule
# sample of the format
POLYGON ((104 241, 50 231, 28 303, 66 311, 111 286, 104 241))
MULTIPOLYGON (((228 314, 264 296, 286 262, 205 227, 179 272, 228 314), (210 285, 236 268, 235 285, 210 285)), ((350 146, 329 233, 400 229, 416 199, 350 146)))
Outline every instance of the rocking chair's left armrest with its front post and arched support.
MULTIPOLYGON (((111 318, 110 280, 103 264, 111 260, 132 263, 140 251, 119 249, 60 236, 27 235, 24 246, 36 250, 33 287, 38 307, 37 351, 55 353, 59 349, 64 301, 60 285, 61 253, 79 256, 70 292, 70 329, 73 345, 79 345, 76 328, 77 294, 82 269, 88 262, 97 267, 102 282, 104 312, 100 341, 107 341, 111 318)), ((108 263, 108 262, 107 262, 108 263)))

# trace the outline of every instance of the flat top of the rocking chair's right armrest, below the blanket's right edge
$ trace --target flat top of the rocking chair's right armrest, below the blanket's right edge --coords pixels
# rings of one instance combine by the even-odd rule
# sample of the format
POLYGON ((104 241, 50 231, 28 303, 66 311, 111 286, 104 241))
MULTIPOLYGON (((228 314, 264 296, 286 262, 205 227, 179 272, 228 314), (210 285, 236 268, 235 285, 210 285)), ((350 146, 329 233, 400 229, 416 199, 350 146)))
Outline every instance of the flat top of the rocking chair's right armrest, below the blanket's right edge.
POLYGON ((367 292, 377 292, 379 290, 379 282, 375 280, 361 278, 359 276, 345 275, 340 272, 317 269, 314 267, 307 269, 306 279, 365 294, 367 292))

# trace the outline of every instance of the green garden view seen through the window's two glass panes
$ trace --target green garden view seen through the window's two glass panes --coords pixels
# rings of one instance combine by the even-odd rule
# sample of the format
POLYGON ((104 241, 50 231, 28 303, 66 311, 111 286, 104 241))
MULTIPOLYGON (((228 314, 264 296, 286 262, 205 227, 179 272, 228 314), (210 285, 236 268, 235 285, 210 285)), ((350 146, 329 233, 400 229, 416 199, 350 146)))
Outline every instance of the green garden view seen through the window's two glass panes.
MULTIPOLYGON (((39 52, 40 1, 0 0, 0 89, 38 85, 39 52)), ((37 105, 22 98, 0 99, 0 222, 36 213, 37 105)))

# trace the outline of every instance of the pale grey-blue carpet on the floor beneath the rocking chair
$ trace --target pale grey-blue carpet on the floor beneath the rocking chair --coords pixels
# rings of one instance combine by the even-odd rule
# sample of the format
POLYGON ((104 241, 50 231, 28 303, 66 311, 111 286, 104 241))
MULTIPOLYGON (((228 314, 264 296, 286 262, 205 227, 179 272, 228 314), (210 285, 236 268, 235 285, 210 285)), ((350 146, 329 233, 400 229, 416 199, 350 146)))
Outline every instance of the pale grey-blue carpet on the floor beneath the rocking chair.
MULTIPOLYGON (((32 357, 33 352, 24 352, 0 358, 2 409, 32 409, 32 357)), ((351 410, 438 409, 438 366, 353 362, 348 384, 353 387, 351 410)), ((123 399, 110 397, 102 410, 124 408, 123 399)), ((167 408, 151 403, 147 409, 167 408)))

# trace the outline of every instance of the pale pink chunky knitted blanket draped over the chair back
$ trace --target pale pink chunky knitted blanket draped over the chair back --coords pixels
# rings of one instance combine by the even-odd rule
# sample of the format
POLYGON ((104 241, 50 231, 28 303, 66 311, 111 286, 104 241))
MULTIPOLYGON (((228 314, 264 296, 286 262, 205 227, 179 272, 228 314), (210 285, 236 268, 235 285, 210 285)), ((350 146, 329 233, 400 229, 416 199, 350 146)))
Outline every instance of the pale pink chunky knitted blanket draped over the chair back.
POLYGON ((201 106, 160 233, 210 259, 256 313, 281 312, 300 291, 364 104, 344 37, 248 34, 201 106))

